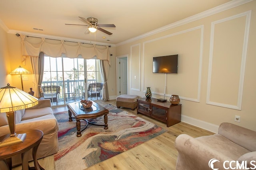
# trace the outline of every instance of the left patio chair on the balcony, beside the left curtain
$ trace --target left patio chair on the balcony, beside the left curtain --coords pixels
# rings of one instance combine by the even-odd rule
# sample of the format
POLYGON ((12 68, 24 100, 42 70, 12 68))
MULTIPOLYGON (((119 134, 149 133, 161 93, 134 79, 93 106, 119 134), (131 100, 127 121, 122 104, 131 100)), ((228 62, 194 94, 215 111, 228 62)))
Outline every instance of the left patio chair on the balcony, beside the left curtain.
POLYGON ((58 105, 58 94, 60 94, 60 86, 42 86, 44 98, 50 99, 51 102, 56 102, 58 105))

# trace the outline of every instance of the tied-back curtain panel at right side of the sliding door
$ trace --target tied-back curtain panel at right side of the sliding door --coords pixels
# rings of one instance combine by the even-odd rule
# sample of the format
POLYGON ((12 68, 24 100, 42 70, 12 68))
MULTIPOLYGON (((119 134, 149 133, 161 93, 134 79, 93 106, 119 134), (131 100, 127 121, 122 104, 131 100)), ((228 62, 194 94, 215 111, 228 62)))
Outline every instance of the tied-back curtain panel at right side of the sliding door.
POLYGON ((103 90, 102 90, 102 98, 103 100, 109 100, 108 96, 108 69, 109 69, 109 64, 107 61, 101 60, 100 61, 100 68, 101 68, 101 74, 102 74, 102 79, 104 81, 103 83, 103 90))

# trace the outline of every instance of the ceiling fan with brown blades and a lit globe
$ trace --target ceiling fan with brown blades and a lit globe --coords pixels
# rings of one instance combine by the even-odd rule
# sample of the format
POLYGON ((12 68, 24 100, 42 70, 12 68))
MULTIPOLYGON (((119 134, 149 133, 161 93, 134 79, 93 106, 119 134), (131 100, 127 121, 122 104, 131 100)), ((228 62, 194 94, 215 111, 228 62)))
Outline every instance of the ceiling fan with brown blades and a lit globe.
MULTIPOLYGON (((82 25, 82 26, 87 26, 88 29, 85 31, 85 33, 89 33, 88 30, 92 33, 94 33, 95 31, 99 30, 102 31, 108 35, 112 35, 111 32, 102 29, 101 27, 116 27, 116 25, 114 24, 98 24, 98 19, 94 18, 94 17, 89 17, 87 19, 83 18, 83 17, 79 17, 82 21, 84 21, 87 25, 82 25)), ((81 24, 71 24, 71 23, 65 23, 65 25, 81 25, 81 24)))

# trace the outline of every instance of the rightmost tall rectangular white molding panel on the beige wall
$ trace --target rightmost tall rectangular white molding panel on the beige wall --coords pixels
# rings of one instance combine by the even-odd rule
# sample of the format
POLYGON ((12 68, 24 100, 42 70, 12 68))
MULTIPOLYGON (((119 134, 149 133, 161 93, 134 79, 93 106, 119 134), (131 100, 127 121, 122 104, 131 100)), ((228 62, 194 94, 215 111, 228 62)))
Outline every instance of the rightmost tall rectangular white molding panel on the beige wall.
POLYGON ((250 20, 247 11, 212 22, 206 104, 241 110, 250 20))

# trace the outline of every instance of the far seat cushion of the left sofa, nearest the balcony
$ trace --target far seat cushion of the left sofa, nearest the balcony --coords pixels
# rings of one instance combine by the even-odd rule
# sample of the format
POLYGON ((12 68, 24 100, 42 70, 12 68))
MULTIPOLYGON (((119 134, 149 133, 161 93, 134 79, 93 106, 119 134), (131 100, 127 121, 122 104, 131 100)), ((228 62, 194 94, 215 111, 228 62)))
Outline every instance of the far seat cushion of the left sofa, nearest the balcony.
MULTIPOLYGON (((25 114, 22 117, 22 121, 28 119, 34 119, 37 117, 42 117, 44 115, 53 115, 53 111, 51 107, 44 107, 40 109, 26 109, 25 114)), ((31 120, 30 120, 31 121, 31 120)))

